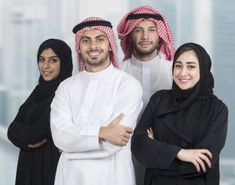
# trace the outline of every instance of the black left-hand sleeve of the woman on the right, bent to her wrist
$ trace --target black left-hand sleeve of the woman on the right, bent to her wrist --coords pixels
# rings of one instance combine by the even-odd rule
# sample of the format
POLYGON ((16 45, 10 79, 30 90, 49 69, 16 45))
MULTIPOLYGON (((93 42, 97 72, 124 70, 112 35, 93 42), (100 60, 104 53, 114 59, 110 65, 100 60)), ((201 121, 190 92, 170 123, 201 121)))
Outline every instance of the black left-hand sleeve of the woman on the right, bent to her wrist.
POLYGON ((152 127, 157 106, 157 94, 153 95, 144 110, 132 136, 131 150, 136 159, 146 167, 169 169, 180 147, 152 140, 147 129, 152 127))

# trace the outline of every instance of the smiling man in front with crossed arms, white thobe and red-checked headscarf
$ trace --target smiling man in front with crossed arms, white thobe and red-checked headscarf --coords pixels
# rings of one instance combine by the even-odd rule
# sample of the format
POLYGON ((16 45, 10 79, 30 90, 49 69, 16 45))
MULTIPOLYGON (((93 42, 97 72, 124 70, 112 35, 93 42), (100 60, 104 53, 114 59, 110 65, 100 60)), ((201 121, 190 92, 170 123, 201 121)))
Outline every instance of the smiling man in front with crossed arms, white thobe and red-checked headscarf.
POLYGON ((51 131, 62 151, 55 185, 135 185, 130 137, 142 88, 117 69, 111 23, 97 17, 74 27, 80 72, 58 87, 51 131))

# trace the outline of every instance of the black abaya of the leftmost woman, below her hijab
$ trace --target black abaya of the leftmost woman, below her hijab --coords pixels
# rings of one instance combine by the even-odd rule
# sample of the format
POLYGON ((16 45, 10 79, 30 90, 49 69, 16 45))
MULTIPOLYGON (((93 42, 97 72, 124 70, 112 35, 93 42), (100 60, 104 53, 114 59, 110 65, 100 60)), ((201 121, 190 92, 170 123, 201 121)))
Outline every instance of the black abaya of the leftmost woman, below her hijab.
POLYGON ((50 103, 53 96, 37 102, 30 96, 21 106, 16 118, 8 129, 8 137, 20 148, 17 165, 16 185, 53 185, 57 162, 60 156, 50 134, 50 103), (36 119, 32 115, 37 115, 36 119), (35 122, 29 120, 34 119, 35 122), (28 144, 47 142, 39 148, 28 144))

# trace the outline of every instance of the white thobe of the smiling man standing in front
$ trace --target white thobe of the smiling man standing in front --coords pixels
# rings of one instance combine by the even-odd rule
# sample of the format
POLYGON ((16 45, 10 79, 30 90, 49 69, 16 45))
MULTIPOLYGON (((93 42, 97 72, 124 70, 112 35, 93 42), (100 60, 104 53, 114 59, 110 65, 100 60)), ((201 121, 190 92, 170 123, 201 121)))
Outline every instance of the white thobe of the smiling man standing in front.
POLYGON ((61 154, 55 185, 134 185, 130 142, 99 142, 100 127, 120 113, 134 129, 142 108, 142 88, 131 75, 110 65, 83 71, 60 84, 51 104, 51 132, 61 154))

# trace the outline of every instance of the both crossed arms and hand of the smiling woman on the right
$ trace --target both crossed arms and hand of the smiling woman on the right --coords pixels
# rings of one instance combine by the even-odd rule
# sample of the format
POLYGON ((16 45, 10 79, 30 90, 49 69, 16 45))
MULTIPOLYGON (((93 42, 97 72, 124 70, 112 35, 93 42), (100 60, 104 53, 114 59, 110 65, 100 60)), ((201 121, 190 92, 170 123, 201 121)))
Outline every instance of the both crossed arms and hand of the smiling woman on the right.
POLYGON ((153 140, 150 129, 156 100, 152 99, 138 124, 132 139, 132 151, 145 166, 159 174, 192 177, 207 172, 218 161, 227 130, 227 108, 222 106, 210 120, 204 138, 194 148, 183 149, 153 140), (141 152, 145 151, 145 152, 141 152))

